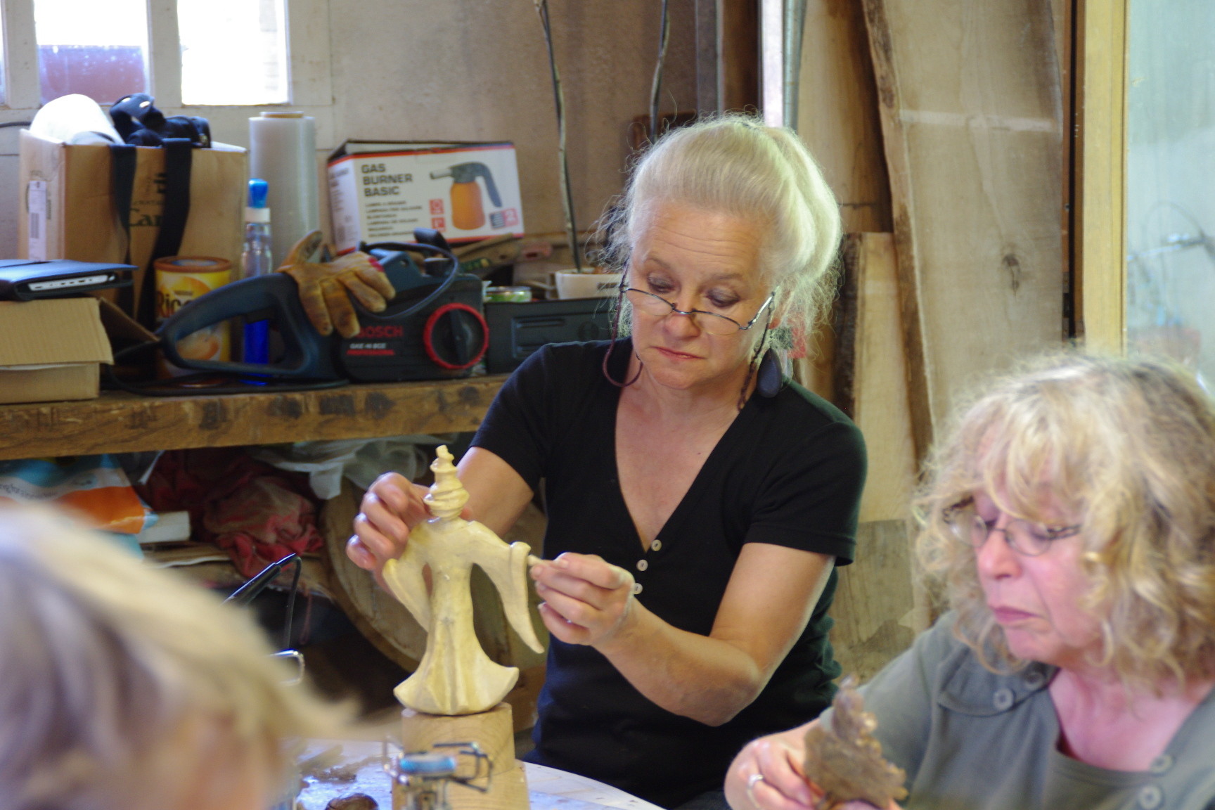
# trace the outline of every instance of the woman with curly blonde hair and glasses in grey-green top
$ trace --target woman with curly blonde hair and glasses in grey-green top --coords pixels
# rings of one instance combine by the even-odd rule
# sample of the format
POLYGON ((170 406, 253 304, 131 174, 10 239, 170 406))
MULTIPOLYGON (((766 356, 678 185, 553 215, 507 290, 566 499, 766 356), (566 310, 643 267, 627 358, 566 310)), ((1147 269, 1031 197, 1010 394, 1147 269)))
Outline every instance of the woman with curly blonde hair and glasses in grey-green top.
MULTIPOLYGON (((1215 406, 1187 373, 1068 355, 998 381, 916 516, 951 610, 864 687, 908 808, 1215 809, 1215 406)), ((806 730, 744 749, 735 808, 815 806, 806 730)))

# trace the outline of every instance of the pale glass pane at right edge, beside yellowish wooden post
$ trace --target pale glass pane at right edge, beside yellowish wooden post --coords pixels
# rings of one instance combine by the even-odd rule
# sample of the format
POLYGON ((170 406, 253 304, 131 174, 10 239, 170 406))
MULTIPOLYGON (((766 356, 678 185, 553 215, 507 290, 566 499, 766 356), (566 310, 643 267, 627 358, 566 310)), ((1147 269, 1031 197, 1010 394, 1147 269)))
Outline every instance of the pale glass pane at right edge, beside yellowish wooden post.
POLYGON ((1210 0, 1135 0, 1126 50, 1126 346, 1215 390, 1210 0))

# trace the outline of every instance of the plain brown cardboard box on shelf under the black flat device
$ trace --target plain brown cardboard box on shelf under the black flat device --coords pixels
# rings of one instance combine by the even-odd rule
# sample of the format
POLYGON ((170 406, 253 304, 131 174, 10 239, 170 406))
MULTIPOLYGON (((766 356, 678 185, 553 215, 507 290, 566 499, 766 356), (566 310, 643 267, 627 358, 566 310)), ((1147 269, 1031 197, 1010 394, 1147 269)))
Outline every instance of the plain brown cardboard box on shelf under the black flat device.
POLYGON ((0 402, 91 400, 113 363, 95 298, 0 301, 0 402))

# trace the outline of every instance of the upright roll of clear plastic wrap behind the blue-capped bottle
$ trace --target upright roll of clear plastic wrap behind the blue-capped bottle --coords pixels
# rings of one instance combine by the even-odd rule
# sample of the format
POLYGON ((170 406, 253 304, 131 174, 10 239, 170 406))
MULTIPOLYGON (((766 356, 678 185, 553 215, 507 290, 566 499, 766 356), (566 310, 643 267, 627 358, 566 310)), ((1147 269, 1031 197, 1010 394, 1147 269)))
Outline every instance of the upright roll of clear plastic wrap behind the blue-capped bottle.
POLYGON ((249 119, 249 176, 270 185, 271 261, 321 227, 316 126, 304 113, 262 113, 249 119))

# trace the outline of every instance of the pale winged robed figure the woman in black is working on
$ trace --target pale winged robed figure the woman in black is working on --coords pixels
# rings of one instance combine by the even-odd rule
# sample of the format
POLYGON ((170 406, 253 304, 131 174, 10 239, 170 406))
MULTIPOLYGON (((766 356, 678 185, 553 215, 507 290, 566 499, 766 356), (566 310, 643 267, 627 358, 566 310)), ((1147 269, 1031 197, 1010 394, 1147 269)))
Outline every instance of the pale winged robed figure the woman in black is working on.
POLYGON ((487 712, 505 697, 519 679, 516 667, 495 663, 473 627, 469 577, 474 565, 488 574, 502 596, 503 612, 524 644, 543 651, 527 611, 526 543, 507 544, 476 521, 460 517, 468 492, 456 477, 446 447, 430 465, 435 483, 424 498, 433 519, 409 533, 397 560, 384 566, 384 582, 418 623, 426 629, 426 651, 417 672, 394 693, 405 706, 426 714, 487 712), (423 568, 429 566, 428 594, 423 568))

